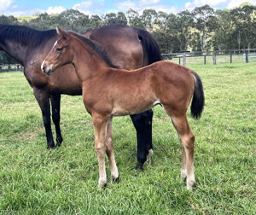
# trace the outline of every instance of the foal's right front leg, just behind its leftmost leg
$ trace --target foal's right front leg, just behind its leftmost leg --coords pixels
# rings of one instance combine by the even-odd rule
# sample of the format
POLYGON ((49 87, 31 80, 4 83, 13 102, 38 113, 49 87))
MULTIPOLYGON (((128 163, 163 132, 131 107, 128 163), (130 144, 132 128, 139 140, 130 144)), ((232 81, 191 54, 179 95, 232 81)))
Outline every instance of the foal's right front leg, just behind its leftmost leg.
POLYGON ((114 155, 113 155, 112 119, 113 117, 110 117, 108 119, 106 146, 107 146, 109 166, 111 170, 111 182, 115 183, 119 181, 119 171, 116 166, 114 155))

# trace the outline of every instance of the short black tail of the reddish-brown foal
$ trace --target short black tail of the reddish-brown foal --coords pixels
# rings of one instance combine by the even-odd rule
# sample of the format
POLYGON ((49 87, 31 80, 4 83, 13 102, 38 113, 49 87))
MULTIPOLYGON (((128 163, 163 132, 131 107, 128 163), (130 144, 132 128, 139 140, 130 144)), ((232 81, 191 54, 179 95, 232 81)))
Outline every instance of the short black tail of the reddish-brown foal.
POLYGON ((205 105, 204 90, 199 75, 194 71, 190 71, 190 73, 193 75, 195 80, 195 90, 190 110, 192 117, 194 119, 199 119, 201 118, 201 113, 205 105))

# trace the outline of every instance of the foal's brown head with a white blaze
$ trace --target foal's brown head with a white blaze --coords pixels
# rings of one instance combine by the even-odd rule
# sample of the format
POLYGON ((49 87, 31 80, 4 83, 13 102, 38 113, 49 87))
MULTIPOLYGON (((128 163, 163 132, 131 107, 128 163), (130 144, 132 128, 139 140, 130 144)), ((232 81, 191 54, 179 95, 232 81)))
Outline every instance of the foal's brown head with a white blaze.
POLYGON ((73 55, 70 43, 73 38, 70 33, 61 30, 59 27, 56 28, 56 31, 59 38, 41 65, 42 72, 47 75, 63 65, 72 63, 73 55))

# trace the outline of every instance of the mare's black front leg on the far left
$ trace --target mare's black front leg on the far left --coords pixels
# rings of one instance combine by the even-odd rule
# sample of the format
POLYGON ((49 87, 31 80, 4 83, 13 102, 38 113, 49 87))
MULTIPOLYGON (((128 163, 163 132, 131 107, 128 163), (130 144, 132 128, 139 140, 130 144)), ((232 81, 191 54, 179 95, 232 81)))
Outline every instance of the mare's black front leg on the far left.
POLYGON ((44 128, 47 139, 47 148, 55 148, 55 142, 52 137, 51 125, 50 125, 50 107, 49 107, 49 94, 44 90, 33 88, 34 96, 36 97, 39 107, 43 114, 44 128))

